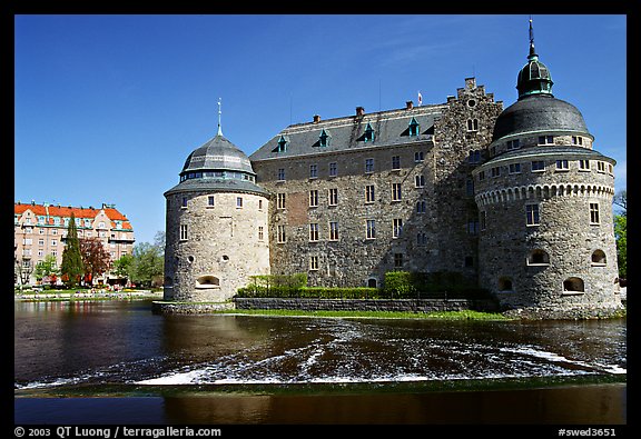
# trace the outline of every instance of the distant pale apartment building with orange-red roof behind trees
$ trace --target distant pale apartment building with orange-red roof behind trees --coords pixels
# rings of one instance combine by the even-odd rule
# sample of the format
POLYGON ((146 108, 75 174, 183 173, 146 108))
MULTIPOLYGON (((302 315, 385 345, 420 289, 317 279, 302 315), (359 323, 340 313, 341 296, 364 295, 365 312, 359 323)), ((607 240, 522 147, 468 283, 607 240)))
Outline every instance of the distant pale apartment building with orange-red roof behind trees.
MULTIPOLYGON (((131 222, 114 204, 103 203, 97 209, 18 201, 13 204, 14 258, 23 266, 33 268, 47 255, 53 255, 60 266, 71 213, 76 218, 78 238, 99 238, 112 261, 134 251, 131 222)), ((106 283, 108 279, 107 273, 97 280, 106 283)), ((17 279, 16 281, 18 282, 17 279)), ((34 282, 36 279, 31 276, 30 283, 34 282)))

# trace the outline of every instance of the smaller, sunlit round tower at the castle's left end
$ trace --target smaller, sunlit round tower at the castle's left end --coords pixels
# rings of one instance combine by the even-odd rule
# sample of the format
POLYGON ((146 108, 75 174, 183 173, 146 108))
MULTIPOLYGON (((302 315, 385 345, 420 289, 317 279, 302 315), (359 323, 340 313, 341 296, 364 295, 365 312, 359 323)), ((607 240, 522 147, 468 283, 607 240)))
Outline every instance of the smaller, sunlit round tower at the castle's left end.
POLYGON ((223 301, 250 276, 269 273, 267 192, 220 122, 165 198, 165 300, 223 301))

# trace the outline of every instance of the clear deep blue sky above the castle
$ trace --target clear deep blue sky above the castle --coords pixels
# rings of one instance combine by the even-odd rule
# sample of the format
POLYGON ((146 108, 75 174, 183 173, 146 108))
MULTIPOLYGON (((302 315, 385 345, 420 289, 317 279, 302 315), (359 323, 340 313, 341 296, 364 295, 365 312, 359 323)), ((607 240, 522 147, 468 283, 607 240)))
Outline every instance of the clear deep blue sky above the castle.
MULTIPOLYGON (((223 133, 247 154, 290 123, 443 103, 466 77, 516 100, 529 16, 16 16, 14 200, 115 203, 137 242, 223 133)), ((627 16, 533 16, 556 98, 627 188, 627 16)))

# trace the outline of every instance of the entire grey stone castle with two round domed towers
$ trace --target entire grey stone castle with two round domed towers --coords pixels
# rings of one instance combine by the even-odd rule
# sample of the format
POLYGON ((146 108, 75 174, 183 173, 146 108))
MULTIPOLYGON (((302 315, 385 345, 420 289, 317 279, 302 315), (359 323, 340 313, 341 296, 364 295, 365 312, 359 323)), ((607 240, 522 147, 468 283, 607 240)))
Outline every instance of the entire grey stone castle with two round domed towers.
POLYGON ((165 300, 226 300, 254 275, 382 287, 405 270, 455 272, 504 309, 619 309, 615 162, 552 84, 531 38, 506 109, 467 78, 440 104, 314 116, 250 157, 219 123, 165 192, 165 300))

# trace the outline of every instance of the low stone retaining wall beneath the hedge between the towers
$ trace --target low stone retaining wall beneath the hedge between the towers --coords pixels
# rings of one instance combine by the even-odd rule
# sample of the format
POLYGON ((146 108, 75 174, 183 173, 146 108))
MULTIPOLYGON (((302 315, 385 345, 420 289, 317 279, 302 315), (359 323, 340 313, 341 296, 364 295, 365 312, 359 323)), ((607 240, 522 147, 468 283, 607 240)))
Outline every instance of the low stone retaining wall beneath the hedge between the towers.
POLYGON ((472 299, 282 299, 234 298, 237 309, 300 309, 308 311, 496 311, 490 300, 472 299))

